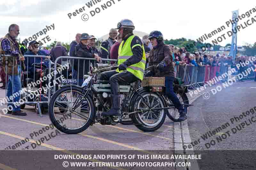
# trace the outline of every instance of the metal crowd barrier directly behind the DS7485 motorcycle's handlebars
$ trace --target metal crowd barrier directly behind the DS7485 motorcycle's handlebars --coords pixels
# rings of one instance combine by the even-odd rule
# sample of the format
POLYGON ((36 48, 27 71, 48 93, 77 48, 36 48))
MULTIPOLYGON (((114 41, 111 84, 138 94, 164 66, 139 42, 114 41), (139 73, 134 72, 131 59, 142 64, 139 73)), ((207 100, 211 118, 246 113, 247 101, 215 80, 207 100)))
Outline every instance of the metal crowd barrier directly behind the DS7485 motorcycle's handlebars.
MULTIPOLYGON (((84 82, 84 75, 88 74, 88 72, 90 71, 90 63, 92 63, 92 65, 95 67, 96 63, 98 63, 96 61, 96 59, 94 58, 83 58, 83 57, 67 57, 67 56, 60 56, 58 57, 55 62, 54 62, 54 70, 57 70, 57 63, 61 63, 64 61, 68 61, 68 66, 70 65, 70 67, 67 69, 67 72, 63 73, 61 71, 60 75, 64 75, 66 76, 65 78, 68 80, 74 80, 74 82, 71 82, 72 84, 75 85, 82 85, 84 82), (82 67, 82 68, 81 68, 82 67), (81 74, 82 72, 82 74, 81 74), (80 75, 79 75, 80 73, 80 75)), ((113 59, 101 59, 101 63, 108 63, 110 64, 110 62, 117 62, 117 60, 113 60, 113 59)), ((57 72, 54 71, 54 80, 56 81, 56 77, 60 76, 57 75, 57 72)), ((68 83, 68 82, 67 82, 68 83)), ((60 83, 61 84, 61 83, 60 83)), ((56 85, 57 88, 59 88, 59 83, 55 83, 53 85, 53 92, 56 92, 56 85)))

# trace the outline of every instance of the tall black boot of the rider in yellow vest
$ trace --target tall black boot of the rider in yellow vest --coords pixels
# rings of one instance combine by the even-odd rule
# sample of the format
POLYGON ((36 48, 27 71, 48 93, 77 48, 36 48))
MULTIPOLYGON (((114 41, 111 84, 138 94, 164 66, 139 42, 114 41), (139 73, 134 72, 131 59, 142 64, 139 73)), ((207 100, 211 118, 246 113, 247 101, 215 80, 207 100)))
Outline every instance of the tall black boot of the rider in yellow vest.
POLYGON ((112 95, 112 107, 108 112, 102 112, 104 116, 121 116, 120 110, 120 96, 112 95))

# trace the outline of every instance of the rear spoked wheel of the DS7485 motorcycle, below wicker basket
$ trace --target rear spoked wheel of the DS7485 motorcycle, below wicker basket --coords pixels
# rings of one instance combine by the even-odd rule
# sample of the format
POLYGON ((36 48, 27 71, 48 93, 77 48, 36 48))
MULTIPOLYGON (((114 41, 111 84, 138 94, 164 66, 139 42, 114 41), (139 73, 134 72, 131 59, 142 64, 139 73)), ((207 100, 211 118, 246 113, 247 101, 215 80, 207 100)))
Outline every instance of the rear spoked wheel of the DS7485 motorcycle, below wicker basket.
POLYGON ((141 97, 138 97, 134 103, 134 111, 142 111, 132 115, 132 120, 135 121, 135 126, 145 132, 156 131, 159 129, 165 120, 166 113, 162 109, 160 110, 148 110, 150 106, 151 109, 163 108, 166 107, 163 96, 158 96, 156 93, 144 92, 141 94, 141 97), (143 100, 144 99, 144 100, 143 100), (147 103, 147 104, 146 104, 147 103))

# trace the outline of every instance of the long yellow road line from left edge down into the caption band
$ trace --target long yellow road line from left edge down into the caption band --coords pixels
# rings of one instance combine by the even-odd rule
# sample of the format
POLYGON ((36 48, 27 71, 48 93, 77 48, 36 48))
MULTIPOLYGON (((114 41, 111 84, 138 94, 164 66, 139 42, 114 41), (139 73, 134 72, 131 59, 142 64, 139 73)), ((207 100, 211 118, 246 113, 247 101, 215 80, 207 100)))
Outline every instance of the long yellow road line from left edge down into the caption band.
MULTIPOLYGON (((21 140, 23 140, 25 138, 25 137, 20 137, 20 136, 17 136, 17 135, 11 134, 11 133, 7 133, 7 132, 3 132, 3 131, 0 131, 0 134, 10 136, 10 137, 14 137, 14 138, 18 138, 18 139, 21 139, 21 140)), ((34 141, 34 140, 29 140, 28 142, 36 143, 36 141, 34 141)), ((61 152, 70 154, 70 155, 81 155, 81 154, 78 154, 78 153, 67 151, 65 149, 57 148, 57 147, 49 145, 49 144, 42 143, 41 145, 44 146, 44 147, 50 148, 50 149, 54 149, 54 150, 57 150, 57 151, 61 151, 61 152)), ((90 160, 92 162, 102 162, 100 160, 95 160, 95 159, 87 159, 87 160, 90 160)), ((1 165, 3 165, 3 164, 0 164, 0 167, 1 167, 1 165)), ((5 166, 5 165, 3 165, 3 166, 5 166)), ((8 166, 6 166, 6 167, 8 167, 8 166)), ((118 168, 118 167, 110 167, 110 168, 117 169, 117 170, 124 170, 123 168, 118 168)), ((13 168, 9 167, 9 169, 6 169, 6 170, 16 170, 16 169, 13 169, 13 168)))

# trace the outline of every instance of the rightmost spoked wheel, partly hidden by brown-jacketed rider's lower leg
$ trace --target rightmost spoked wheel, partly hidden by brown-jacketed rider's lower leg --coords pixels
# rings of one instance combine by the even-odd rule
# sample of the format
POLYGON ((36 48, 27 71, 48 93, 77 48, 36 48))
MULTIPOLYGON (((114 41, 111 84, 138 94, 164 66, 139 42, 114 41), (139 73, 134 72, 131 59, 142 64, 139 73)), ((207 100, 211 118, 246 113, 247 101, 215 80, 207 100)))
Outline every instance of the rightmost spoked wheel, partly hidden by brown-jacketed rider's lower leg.
MULTIPOLYGON (((185 104, 185 105, 184 105, 184 112, 187 114, 187 112, 188 112, 188 97, 187 97, 186 93, 178 92, 178 93, 175 93, 175 94, 177 94, 177 97, 178 97, 178 99, 180 100, 180 103, 181 103, 182 105, 185 104)), ((173 106, 173 107, 174 107, 174 105, 173 105, 173 103, 172 103, 171 100, 167 99, 167 97, 166 97, 166 100, 168 100, 168 101, 167 101, 167 105, 170 104, 169 106, 173 106)), ((168 107, 169 107, 169 106, 168 106, 168 107)), ((173 108, 173 109, 169 109, 168 111, 166 110, 166 115, 167 115, 173 122, 178 122, 180 113, 179 113, 179 110, 178 110, 178 109, 173 108)))

